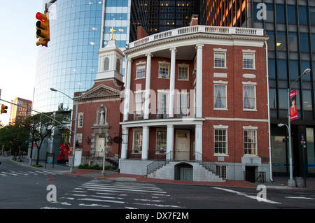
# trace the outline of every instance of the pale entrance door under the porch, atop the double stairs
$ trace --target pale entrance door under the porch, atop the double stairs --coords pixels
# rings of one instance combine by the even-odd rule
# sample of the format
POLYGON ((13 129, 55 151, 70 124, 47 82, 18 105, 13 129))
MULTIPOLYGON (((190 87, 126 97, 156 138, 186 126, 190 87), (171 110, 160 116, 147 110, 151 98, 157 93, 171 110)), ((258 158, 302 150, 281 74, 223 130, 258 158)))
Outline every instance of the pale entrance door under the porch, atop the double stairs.
POLYGON ((189 160, 190 157, 190 131, 177 130, 176 131, 176 160, 189 160))

